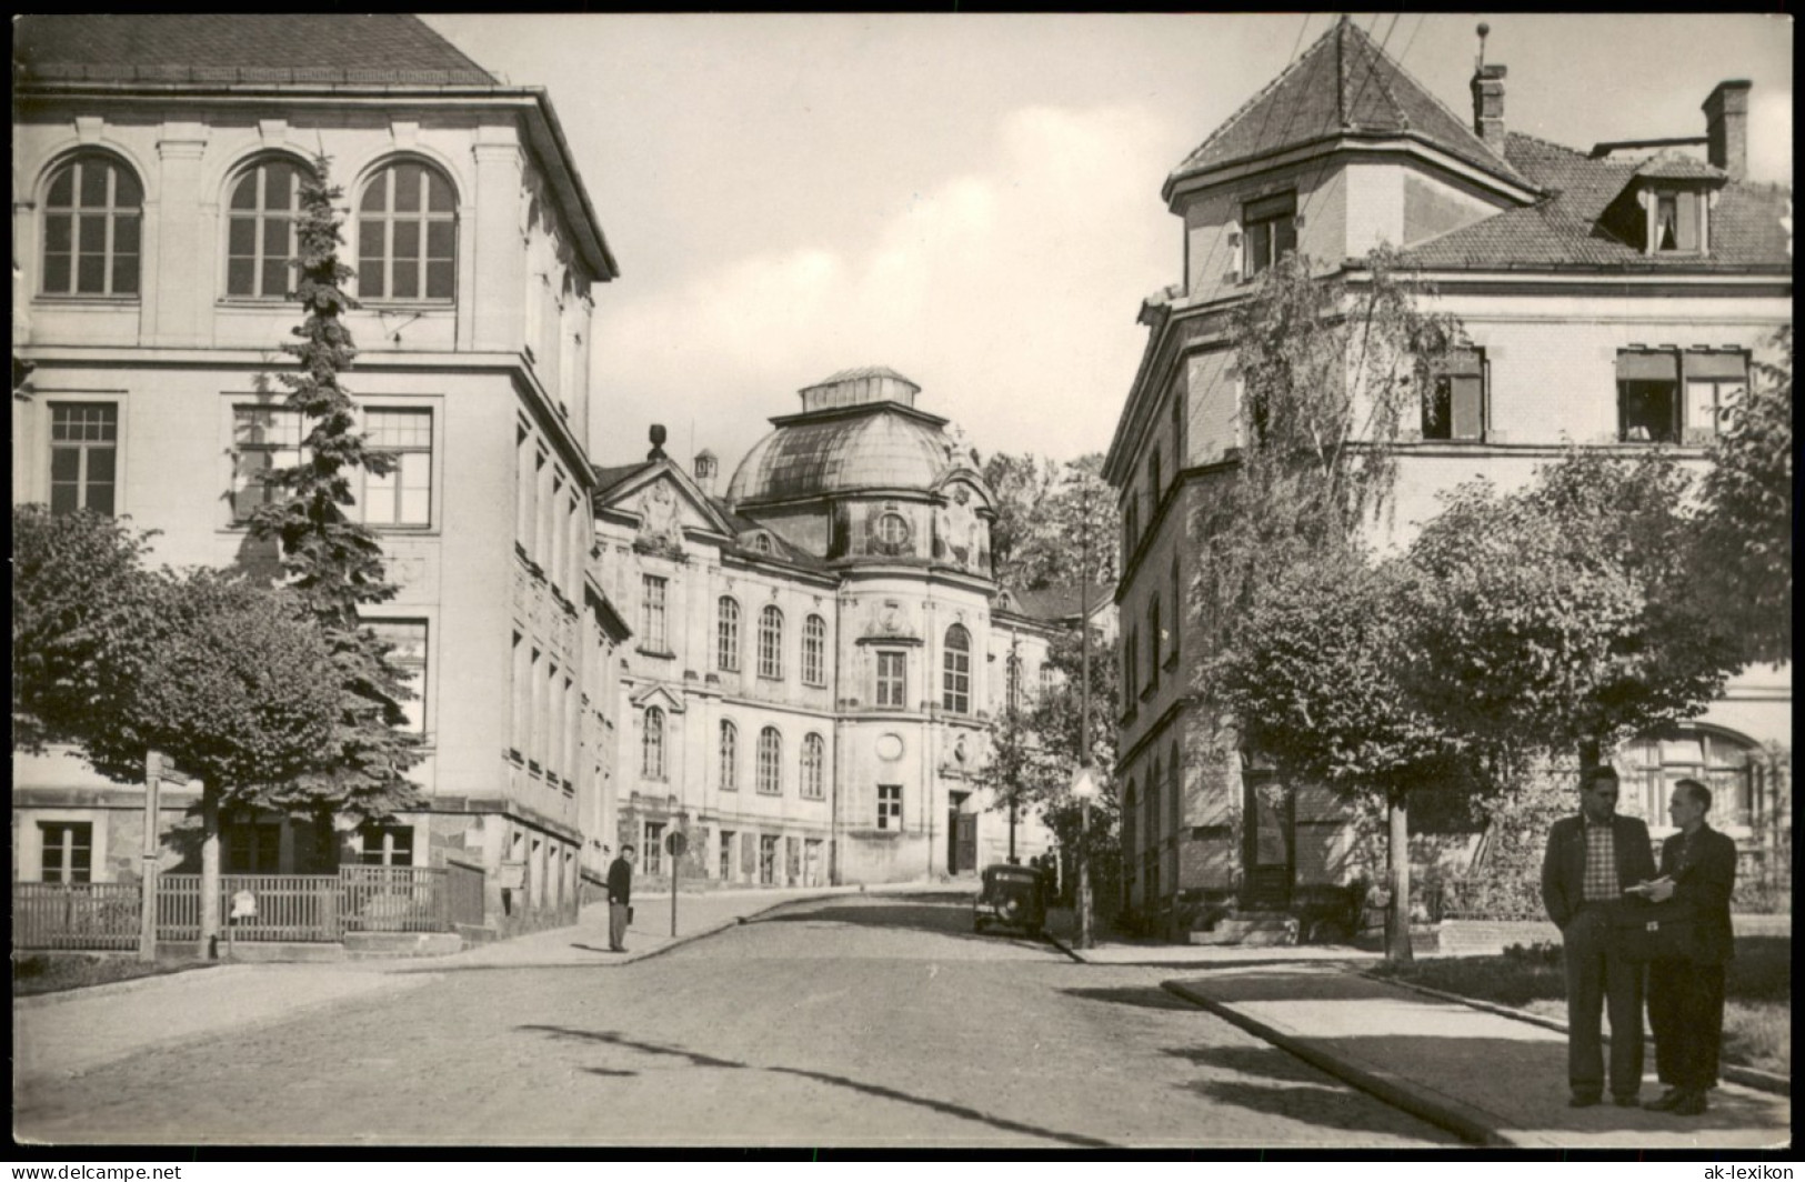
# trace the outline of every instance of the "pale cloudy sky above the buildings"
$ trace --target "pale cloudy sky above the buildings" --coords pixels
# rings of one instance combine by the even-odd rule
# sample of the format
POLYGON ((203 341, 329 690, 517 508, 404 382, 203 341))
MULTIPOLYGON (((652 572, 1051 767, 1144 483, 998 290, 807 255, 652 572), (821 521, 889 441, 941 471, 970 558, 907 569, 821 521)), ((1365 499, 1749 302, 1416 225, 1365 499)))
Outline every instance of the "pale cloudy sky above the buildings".
MULTIPOLYGON (((652 422, 722 484, 796 392, 888 365, 980 455, 1103 451, 1141 300, 1180 278, 1166 175, 1334 14, 426 16, 545 87, 621 276, 596 287, 590 457, 652 422)), ((1464 121, 1478 38, 1505 125, 1587 150, 1704 135, 1749 79, 1749 173, 1792 180, 1783 16, 1374 14, 1464 121)))

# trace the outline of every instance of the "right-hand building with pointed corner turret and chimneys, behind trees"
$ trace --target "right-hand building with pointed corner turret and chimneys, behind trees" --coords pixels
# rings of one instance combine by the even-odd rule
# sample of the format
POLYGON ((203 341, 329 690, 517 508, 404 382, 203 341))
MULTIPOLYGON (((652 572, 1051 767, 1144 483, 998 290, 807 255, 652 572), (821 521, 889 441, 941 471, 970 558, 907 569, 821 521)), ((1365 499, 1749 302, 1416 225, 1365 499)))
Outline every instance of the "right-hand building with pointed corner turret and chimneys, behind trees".
MULTIPOLYGON (((1502 65, 1480 61, 1464 119, 1343 18, 1168 177, 1184 278, 1143 305, 1148 341, 1105 469, 1123 511, 1132 906, 1282 910, 1354 873, 1332 798, 1278 781, 1258 753, 1206 754, 1188 529, 1244 428, 1229 309, 1287 253, 1357 283, 1356 260, 1390 244, 1464 321, 1466 348, 1397 449, 1383 545, 1408 541, 1437 493, 1522 485, 1572 444, 1666 444, 1702 464, 1717 410, 1791 323, 1791 197, 1745 179, 1747 96, 1717 87, 1704 135, 1579 152, 1507 132, 1502 65)), ((1624 808, 1661 834, 1668 785, 1706 778, 1713 823, 1760 859, 1778 819, 1765 745, 1791 751, 1789 669, 1749 669, 1695 724, 1615 753, 1624 808)))

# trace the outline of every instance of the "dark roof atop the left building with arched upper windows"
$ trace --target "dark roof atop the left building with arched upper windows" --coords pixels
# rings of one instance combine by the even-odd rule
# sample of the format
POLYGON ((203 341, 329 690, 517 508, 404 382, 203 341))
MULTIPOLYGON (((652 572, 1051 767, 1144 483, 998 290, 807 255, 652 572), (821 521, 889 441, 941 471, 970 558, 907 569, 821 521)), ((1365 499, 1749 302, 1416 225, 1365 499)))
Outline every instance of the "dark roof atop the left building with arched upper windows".
POLYGON ((13 27, 14 81, 496 85, 417 16, 81 14, 13 27))

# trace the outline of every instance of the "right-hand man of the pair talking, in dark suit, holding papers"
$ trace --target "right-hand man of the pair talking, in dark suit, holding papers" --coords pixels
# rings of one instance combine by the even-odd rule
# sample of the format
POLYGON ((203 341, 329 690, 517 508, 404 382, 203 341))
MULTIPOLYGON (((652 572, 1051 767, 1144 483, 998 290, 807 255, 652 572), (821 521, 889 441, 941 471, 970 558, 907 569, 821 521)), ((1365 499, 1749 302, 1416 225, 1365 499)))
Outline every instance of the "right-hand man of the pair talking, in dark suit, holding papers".
POLYGON ((1680 832, 1661 843, 1661 877, 1648 897, 1688 908, 1699 937, 1688 960, 1648 965, 1648 1027, 1655 1034, 1655 1070, 1668 1086, 1646 1108, 1697 1117, 1704 1094, 1717 1086, 1717 1052, 1724 1043, 1724 965, 1735 935, 1729 895, 1736 886, 1736 843, 1704 823, 1711 789, 1697 780, 1673 785, 1668 816, 1680 832))

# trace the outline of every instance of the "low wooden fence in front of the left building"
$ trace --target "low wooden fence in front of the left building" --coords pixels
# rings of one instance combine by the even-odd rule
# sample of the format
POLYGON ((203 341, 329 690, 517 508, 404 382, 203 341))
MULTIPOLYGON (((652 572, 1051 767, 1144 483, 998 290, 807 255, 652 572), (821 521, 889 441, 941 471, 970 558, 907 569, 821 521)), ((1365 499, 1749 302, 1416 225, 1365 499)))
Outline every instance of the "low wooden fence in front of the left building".
MULTIPOLYGON (((480 870, 458 866, 458 913, 482 922, 480 870), (473 881, 471 881, 473 879, 473 881)), ((220 940, 338 942, 347 931, 451 931, 449 873, 428 866, 341 866, 338 873, 220 875, 220 940), (233 900, 251 908, 233 919, 233 900)), ((137 882, 14 882, 13 947, 137 947, 137 882)), ((157 940, 200 938, 200 875, 157 875, 157 940)))

